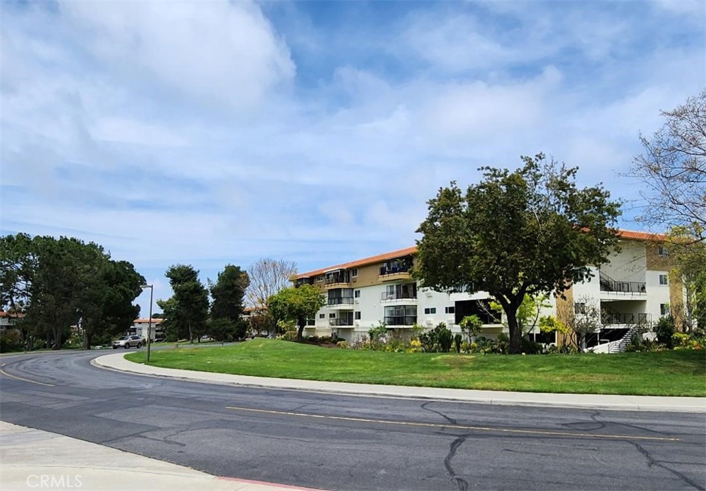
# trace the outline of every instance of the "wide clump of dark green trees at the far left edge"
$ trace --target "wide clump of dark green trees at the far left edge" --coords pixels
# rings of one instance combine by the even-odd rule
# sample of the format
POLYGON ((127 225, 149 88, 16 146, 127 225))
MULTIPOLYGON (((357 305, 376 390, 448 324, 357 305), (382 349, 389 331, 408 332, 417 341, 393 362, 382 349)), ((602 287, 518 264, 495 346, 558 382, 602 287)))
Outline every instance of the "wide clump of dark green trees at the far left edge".
POLYGON ((144 281, 129 262, 114 262, 100 245, 76 238, 4 236, 0 266, 1 306, 25 313, 24 334, 45 337, 56 349, 72 325, 82 327, 87 348, 94 336, 127 329, 144 281))

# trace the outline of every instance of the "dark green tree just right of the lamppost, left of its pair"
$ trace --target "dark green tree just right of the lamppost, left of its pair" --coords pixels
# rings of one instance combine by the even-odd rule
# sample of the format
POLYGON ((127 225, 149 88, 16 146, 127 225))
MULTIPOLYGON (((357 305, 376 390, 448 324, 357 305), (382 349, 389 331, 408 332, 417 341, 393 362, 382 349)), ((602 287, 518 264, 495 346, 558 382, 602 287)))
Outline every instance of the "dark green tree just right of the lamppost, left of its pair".
POLYGON ((177 339, 198 338, 208 317, 208 291, 191 265, 172 265, 164 274, 169 278, 174 294, 166 301, 157 301, 167 316, 167 332, 177 339))

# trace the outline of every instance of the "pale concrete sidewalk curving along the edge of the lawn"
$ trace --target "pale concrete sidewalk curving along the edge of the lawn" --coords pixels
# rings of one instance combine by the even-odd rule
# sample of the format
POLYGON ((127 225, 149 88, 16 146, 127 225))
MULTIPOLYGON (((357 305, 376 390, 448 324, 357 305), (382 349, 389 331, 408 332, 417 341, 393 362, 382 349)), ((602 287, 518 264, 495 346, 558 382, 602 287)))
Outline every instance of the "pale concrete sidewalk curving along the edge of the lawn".
POLYGON ((404 387, 399 385, 349 384, 317 382, 225 373, 197 372, 160 368, 133 363, 123 353, 104 355, 91 361, 92 365, 153 377, 166 377, 190 382, 295 389, 312 392, 356 394, 364 396, 407 397, 413 399, 442 399, 477 404, 518 406, 554 406, 570 408, 615 409, 622 411, 670 411, 679 413, 706 413, 705 397, 613 396, 597 394, 544 394, 539 392, 495 392, 486 390, 439 389, 436 387, 404 387))

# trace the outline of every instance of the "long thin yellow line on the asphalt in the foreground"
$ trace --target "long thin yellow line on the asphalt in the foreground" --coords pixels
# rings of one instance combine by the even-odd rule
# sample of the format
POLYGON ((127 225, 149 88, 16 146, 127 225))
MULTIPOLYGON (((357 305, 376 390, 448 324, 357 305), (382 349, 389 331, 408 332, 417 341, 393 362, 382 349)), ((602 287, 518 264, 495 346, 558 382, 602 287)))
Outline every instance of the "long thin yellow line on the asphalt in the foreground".
POLYGON ((484 426, 465 426, 465 425, 443 425, 441 423, 414 423, 412 421, 394 421, 394 420, 378 420, 378 419, 368 419, 368 418, 349 418, 347 416, 324 416, 321 414, 307 414, 307 413, 292 413, 289 411, 273 411, 271 409, 253 409, 253 408, 243 408, 238 406, 226 406, 226 409, 233 409, 235 411, 251 411, 253 413, 269 413, 269 414, 281 414, 285 416, 300 416, 305 418, 321 418, 321 419, 332 419, 332 420, 344 420, 344 421, 355 421, 358 423, 378 423, 383 425, 404 425, 404 426, 419 426, 424 428, 451 428, 453 430, 474 430, 474 431, 491 431, 491 432, 503 432, 503 433, 520 433, 524 435, 551 435, 551 436, 561 436, 561 437, 587 437, 587 438, 612 438, 615 440, 659 440, 666 442, 679 442, 678 438, 666 438, 666 437, 633 437, 632 435, 599 435, 593 433, 571 433, 563 431, 542 431, 542 430, 519 430, 515 428, 487 428, 484 426))

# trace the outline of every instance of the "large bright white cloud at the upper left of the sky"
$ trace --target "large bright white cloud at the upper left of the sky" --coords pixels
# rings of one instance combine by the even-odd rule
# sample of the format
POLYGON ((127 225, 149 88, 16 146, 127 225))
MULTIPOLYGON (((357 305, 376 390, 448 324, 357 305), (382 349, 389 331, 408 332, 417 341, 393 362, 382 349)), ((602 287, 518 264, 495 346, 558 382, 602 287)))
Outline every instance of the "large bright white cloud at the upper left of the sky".
POLYGON ((60 9, 104 66, 179 95, 251 109, 294 77, 289 49, 249 2, 64 1, 60 9))

